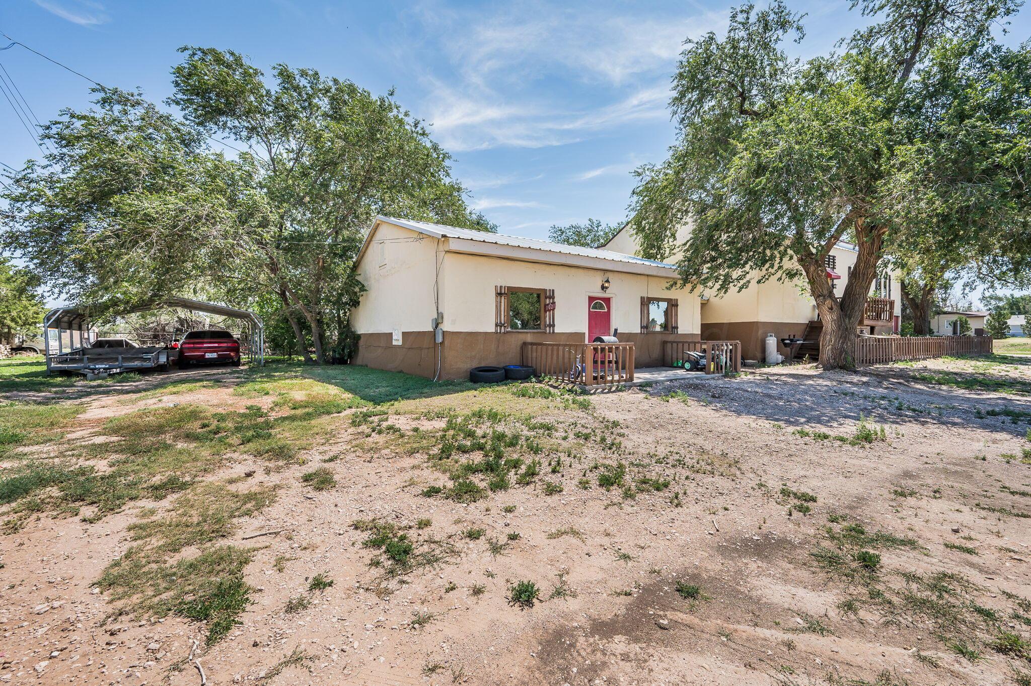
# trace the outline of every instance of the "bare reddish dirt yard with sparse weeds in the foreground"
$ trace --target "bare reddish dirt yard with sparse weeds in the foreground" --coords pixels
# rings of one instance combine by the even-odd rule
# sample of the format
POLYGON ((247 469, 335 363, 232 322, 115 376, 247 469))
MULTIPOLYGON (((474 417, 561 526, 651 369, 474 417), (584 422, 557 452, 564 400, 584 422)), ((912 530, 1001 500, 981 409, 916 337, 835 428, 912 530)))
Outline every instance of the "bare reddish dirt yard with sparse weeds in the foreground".
MULTIPOLYGON (((106 445, 105 422, 141 409, 272 412, 291 392, 234 395, 246 370, 192 374, 219 383, 59 393, 85 411, 3 467, 106 445)), ((796 366, 583 402, 463 388, 325 414, 286 466, 241 452, 203 474, 276 489, 175 553, 251 551, 251 603, 210 645, 203 621, 126 610, 98 585, 138 540, 130 525, 175 495, 19 520, 0 536, 0 682, 197 686, 199 662, 207 684, 1028 684, 1029 383, 1031 359, 796 366), (541 474, 448 500, 447 417, 485 407, 509 418, 468 421, 516 426, 541 474), (334 483, 304 481, 315 467, 334 483), (391 574, 369 533, 388 529, 356 521, 439 555, 391 574), (520 581, 536 601, 519 603, 520 581)))

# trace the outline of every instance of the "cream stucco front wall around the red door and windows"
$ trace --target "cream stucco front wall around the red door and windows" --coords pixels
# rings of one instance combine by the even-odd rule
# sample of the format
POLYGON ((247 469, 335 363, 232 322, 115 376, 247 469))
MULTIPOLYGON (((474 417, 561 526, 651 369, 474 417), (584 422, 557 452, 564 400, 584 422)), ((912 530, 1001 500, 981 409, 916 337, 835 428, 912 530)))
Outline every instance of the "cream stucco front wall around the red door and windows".
POLYGON ((612 301, 612 325, 623 333, 640 332, 641 296, 676 298, 681 334, 701 330, 701 302, 697 294, 667 290, 669 279, 621 274, 604 270, 561 267, 481 255, 448 252, 442 270, 445 331, 494 331, 494 286, 555 289, 555 330, 587 332, 588 296, 612 301), (601 282, 608 277, 607 293, 601 282))

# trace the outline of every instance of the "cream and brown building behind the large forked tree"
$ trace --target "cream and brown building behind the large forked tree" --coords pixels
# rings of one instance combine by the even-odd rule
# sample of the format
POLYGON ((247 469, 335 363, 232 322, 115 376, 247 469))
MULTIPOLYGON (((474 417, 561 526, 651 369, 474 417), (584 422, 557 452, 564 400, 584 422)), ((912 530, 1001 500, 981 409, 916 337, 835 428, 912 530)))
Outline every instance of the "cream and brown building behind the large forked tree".
MULTIPOLYGON (((677 232, 676 244, 690 238, 691 229, 677 232)), ((630 230, 624 227, 602 247, 620 252, 636 253, 637 243, 630 230)), ((857 250, 841 242, 831 248, 827 260, 827 275, 839 296, 856 264, 857 250)), ((670 259, 675 262, 675 256, 670 259)), ((766 336, 777 338, 777 349, 788 355, 789 350, 779 343, 781 338, 802 338, 808 343, 797 351, 799 355, 819 356, 819 338, 823 324, 819 321, 817 306, 802 282, 780 282, 770 279, 765 283, 753 280, 747 288, 719 298, 702 295, 702 328, 704 340, 739 340, 741 356, 745 359, 765 359, 766 336)), ((902 317, 899 283, 889 272, 880 274, 871 288, 866 316, 861 331, 867 334, 898 333, 902 317)))

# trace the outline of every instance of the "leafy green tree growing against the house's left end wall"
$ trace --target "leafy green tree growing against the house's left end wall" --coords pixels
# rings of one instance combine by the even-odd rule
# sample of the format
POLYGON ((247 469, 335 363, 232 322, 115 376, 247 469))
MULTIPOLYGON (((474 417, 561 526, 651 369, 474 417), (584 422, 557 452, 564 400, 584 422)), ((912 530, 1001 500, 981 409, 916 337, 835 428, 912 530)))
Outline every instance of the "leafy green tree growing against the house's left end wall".
POLYGON ((450 156, 393 92, 374 97, 352 81, 282 64, 267 84, 232 50, 181 52, 169 103, 198 129, 246 145, 241 164, 267 201, 250 228, 248 273, 279 297, 298 340, 303 319, 320 363, 327 330, 335 341, 345 336, 361 293, 352 262, 376 214, 489 229, 451 178, 450 156))

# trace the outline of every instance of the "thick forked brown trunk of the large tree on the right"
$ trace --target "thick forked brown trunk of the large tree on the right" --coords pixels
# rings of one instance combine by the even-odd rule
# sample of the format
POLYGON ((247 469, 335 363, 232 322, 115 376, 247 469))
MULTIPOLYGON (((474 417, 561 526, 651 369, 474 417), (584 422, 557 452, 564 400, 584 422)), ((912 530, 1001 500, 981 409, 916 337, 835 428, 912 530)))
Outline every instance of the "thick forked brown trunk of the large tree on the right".
POLYGON ((856 339, 870 285, 877 275, 884 230, 869 227, 863 217, 859 217, 856 219, 856 236, 859 254, 840 300, 835 298, 827 278, 824 255, 799 259, 824 324, 820 335, 820 367, 825 370, 856 369, 856 339))

